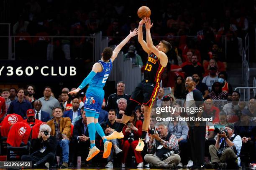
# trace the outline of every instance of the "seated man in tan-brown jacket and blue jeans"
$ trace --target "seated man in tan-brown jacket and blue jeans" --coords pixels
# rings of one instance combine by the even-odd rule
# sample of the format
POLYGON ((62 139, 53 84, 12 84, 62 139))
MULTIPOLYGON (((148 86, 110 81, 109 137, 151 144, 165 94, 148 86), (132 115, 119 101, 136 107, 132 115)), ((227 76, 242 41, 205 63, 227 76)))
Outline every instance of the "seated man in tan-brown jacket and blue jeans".
POLYGON ((58 145, 62 148, 62 165, 61 168, 67 168, 69 162, 69 140, 71 138, 71 120, 69 117, 62 117, 63 112, 60 107, 53 110, 54 118, 47 122, 51 127, 51 136, 55 136, 58 145))

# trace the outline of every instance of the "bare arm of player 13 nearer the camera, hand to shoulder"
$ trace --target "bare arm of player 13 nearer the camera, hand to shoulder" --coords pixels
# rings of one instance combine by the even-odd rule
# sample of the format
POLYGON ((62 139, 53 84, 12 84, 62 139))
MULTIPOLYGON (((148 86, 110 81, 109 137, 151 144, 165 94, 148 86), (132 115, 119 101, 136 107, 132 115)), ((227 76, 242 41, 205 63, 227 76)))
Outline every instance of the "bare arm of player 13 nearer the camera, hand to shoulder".
POLYGON ((146 40, 148 49, 160 58, 161 65, 165 67, 168 62, 168 57, 164 52, 158 50, 157 47, 154 46, 151 38, 150 28, 153 26, 153 23, 151 24, 150 18, 144 18, 144 23, 146 25, 146 40))

